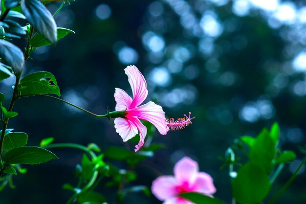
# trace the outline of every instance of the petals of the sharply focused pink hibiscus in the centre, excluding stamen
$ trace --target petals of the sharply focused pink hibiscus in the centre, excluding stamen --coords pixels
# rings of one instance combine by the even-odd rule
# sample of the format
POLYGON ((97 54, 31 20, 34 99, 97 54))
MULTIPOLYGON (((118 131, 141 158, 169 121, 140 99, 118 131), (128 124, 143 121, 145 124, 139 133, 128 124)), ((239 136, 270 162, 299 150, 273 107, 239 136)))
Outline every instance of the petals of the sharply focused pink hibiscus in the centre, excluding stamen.
POLYGON ((123 141, 128 141, 134 137, 138 131, 140 136, 139 143, 135 146, 135 152, 144 144, 147 135, 147 128, 139 119, 151 122, 162 135, 169 131, 165 112, 161 106, 150 101, 139 106, 147 97, 147 82, 144 76, 135 66, 128 66, 124 69, 128 75, 129 83, 133 92, 133 98, 122 89, 115 88, 116 111, 125 111, 124 117, 117 117, 114 121, 116 132, 122 137, 123 141))

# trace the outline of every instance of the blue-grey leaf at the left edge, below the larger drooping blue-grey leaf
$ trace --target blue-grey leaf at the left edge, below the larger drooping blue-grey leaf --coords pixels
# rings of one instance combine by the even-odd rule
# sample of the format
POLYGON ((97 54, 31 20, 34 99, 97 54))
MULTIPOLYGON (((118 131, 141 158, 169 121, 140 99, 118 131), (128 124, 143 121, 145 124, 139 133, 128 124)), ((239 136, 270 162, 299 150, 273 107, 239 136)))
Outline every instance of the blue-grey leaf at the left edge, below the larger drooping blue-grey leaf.
POLYGON ((0 57, 8 66, 13 68, 15 75, 20 75, 23 68, 24 56, 19 47, 0 39, 0 57))

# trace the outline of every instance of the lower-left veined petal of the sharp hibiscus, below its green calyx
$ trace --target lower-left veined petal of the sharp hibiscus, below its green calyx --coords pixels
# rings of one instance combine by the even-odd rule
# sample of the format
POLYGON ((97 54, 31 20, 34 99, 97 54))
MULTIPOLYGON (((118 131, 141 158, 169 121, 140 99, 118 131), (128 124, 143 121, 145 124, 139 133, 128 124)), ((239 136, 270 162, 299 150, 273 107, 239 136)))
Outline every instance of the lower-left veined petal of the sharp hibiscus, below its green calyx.
POLYGON ((136 125, 128 119, 117 117, 114 120, 114 123, 116 132, 119 133, 124 142, 128 141, 138 133, 136 125))

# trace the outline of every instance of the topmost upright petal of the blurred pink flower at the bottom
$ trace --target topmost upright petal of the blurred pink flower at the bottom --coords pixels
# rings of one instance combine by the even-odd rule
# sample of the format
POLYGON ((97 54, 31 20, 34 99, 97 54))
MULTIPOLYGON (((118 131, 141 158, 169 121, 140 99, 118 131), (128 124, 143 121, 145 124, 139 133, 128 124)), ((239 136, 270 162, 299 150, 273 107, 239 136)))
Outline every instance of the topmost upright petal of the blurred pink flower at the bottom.
POLYGON ((197 162, 184 157, 177 161, 174 167, 175 179, 180 182, 188 182, 189 184, 194 183, 198 174, 197 162))

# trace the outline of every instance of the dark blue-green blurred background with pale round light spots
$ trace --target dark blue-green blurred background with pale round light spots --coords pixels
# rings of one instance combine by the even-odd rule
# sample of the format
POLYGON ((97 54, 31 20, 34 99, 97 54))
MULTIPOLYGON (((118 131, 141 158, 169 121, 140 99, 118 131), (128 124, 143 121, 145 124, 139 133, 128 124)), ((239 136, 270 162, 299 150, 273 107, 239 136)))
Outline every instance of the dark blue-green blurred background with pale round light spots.
MULTIPOLYGON (((228 203, 230 178, 227 168, 220 170, 223 162, 218 157, 235 138, 256 136, 277 121, 280 147, 294 150, 297 159, 285 166, 272 186, 275 193, 301 162, 298 147, 305 145, 305 5, 305 0, 71 1, 55 20, 58 27, 76 34, 34 51, 24 74, 52 72, 63 99, 104 114, 108 107, 114 111, 115 87, 131 93, 123 69, 136 65, 148 82, 148 100, 156 99, 168 117, 188 112, 196 116, 182 131, 156 133, 153 142, 167 148, 144 164, 170 175, 174 163, 189 156, 211 174, 218 189, 215 195, 228 203)), ((51 12, 59 6, 60 2, 48 4, 51 12)), ((13 84, 13 78, 1 84, 7 98, 13 84)), ((19 117, 10 120, 8 128, 27 133, 29 145, 53 136, 55 142, 94 142, 102 150, 124 146, 107 119, 50 98, 21 99, 15 111, 19 117)), ((133 149, 134 143, 127 144, 133 149)), ((54 152, 60 160, 24 166, 28 173, 14 177, 16 189, 1 192, 0 203, 64 204, 71 193, 62 185, 76 182, 74 168, 82 153, 54 152)), ((304 170, 277 204, 306 203, 304 170)), ((141 168, 137 172, 134 184, 151 186, 155 175, 141 168)), ((142 194, 123 203, 161 204, 142 194)))

